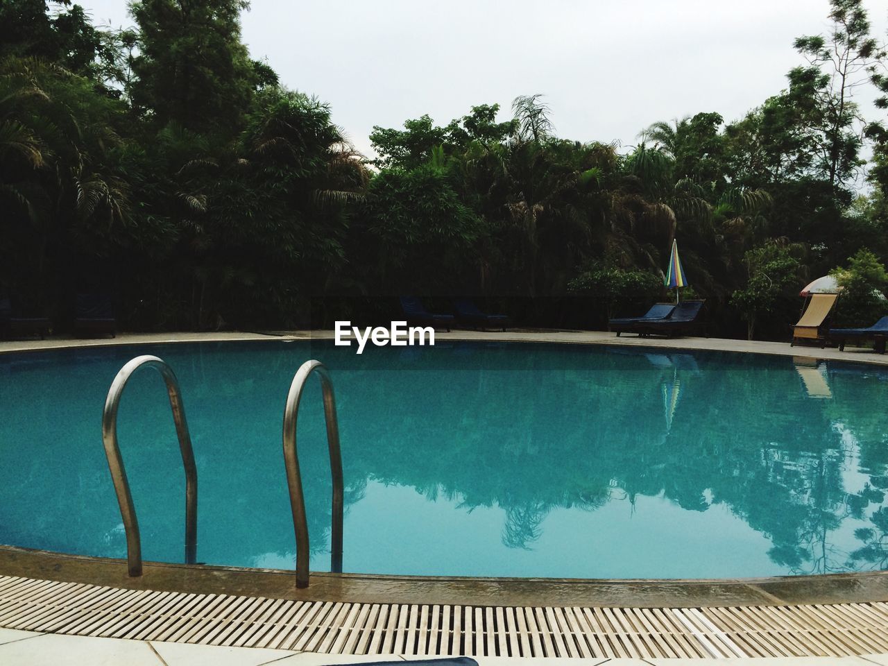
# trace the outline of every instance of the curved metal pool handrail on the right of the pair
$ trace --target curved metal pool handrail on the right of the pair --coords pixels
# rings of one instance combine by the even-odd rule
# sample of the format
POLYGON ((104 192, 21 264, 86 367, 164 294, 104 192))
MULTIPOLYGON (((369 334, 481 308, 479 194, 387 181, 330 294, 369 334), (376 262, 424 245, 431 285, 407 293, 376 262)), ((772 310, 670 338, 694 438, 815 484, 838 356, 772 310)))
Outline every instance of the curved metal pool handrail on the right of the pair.
POLYGON ((339 451, 339 426, 336 417, 336 397, 329 372, 321 361, 305 361, 293 377, 283 412, 283 460, 287 468, 289 505, 293 511, 293 528, 296 532, 296 586, 308 587, 308 522, 305 519, 305 496, 302 493, 302 477, 299 475, 299 456, 296 448, 296 422, 299 400, 305 382, 313 372, 321 377, 324 400, 324 419, 327 422, 327 445, 330 453, 330 474, 333 477, 332 526, 330 531, 330 570, 342 573, 342 515, 343 480, 342 454, 339 451))

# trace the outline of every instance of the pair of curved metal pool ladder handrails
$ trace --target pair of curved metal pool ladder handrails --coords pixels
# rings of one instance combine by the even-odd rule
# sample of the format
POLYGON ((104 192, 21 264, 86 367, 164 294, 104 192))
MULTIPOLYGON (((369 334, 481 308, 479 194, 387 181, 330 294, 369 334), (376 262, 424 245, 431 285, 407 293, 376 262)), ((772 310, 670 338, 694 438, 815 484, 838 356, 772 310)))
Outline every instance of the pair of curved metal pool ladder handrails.
MULTIPOLYGON (((114 483, 117 503, 123 518, 123 529, 126 533, 126 559, 131 576, 142 575, 142 547, 139 536, 139 520, 136 507, 132 503, 130 483, 127 480, 126 468, 120 447, 117 442, 117 411, 123 389, 136 370, 147 367, 160 372, 166 383, 170 397, 173 422, 176 424, 178 446, 182 454, 185 468, 185 561, 194 564, 197 555, 197 467, 194 464, 194 450, 188 424, 185 418, 185 406, 178 379, 170 366, 156 356, 137 356, 129 361, 117 373, 105 400, 102 413, 102 442, 105 445, 108 468, 114 483)), ((302 476, 299 473, 299 456, 297 452, 296 426, 299 402, 302 400, 303 389, 308 377, 317 373, 321 379, 321 392, 324 403, 324 417, 327 424, 327 444, 329 447, 330 473, 333 477, 332 525, 330 535, 330 570, 342 573, 342 523, 343 523, 343 476, 342 454, 339 449, 339 426, 336 415, 336 398, 333 382, 329 372, 321 361, 305 361, 297 370, 289 387, 287 403, 283 414, 283 456, 287 470, 287 486, 289 489, 290 509, 293 512, 293 528, 296 533, 296 586, 308 587, 308 522, 305 517, 305 496, 302 490, 302 476)))

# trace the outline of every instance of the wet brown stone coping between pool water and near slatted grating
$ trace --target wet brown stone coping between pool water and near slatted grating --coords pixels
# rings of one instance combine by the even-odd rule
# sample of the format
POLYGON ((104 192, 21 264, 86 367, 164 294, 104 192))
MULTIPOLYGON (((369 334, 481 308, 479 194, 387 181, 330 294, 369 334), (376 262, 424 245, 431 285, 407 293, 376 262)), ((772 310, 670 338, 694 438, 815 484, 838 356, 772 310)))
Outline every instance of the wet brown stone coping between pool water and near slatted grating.
POLYGON ((146 562, 0 545, 0 575, 127 590, 232 594, 305 601, 573 607, 746 607, 888 600, 888 571, 724 579, 583 579, 413 576, 313 572, 297 589, 294 570, 146 562))

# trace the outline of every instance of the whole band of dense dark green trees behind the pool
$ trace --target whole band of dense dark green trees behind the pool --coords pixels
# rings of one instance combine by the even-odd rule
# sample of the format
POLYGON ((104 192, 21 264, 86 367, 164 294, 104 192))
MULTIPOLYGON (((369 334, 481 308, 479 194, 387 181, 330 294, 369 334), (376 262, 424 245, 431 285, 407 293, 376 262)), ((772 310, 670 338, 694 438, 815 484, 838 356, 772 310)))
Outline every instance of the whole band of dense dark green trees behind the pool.
MULTIPOLYGON (((284 328, 386 319, 409 293, 604 327, 667 297, 678 237, 713 332, 785 337, 806 280, 881 279, 853 263, 888 258, 888 123, 854 102, 888 108, 888 78, 860 0, 832 0, 740 119, 655 122, 620 152, 559 138, 528 95, 506 122, 480 104, 376 127, 372 161, 250 58, 247 7, 139 0, 108 31, 70 0, 0 4, 0 292, 20 312, 64 328, 76 291, 112 290, 126 328, 284 328)), ((868 325, 884 281, 849 280, 843 319, 868 325)))

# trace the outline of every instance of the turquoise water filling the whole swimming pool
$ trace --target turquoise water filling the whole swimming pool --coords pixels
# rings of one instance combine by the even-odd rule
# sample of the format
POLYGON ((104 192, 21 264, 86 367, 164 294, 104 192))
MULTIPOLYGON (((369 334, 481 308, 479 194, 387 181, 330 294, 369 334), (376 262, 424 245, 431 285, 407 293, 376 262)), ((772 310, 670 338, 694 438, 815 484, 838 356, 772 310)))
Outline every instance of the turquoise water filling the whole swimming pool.
MULTIPOLYGON (((199 473, 199 561, 294 565, 289 383, 332 373, 347 572, 718 578, 888 568, 888 372, 789 357, 574 345, 139 345, 0 355, 0 543, 125 557, 101 443, 108 386, 178 374, 199 473)), ((320 388, 299 442, 313 570, 329 570, 320 388)), ((123 394, 147 560, 183 557, 163 380, 123 394)))

